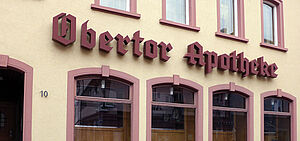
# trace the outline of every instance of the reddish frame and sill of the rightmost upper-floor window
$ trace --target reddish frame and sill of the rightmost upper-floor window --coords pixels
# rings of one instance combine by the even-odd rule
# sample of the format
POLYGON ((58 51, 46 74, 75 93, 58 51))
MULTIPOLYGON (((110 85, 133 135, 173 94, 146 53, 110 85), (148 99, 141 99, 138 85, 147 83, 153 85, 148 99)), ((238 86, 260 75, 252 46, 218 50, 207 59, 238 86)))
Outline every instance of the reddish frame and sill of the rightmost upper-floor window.
POLYGON ((287 52, 288 49, 284 47, 284 25, 283 25, 283 1, 282 0, 261 0, 261 47, 275 49, 283 52, 287 52), (263 4, 264 2, 272 3, 276 6, 277 10, 277 40, 278 46, 264 43, 264 14, 263 4))

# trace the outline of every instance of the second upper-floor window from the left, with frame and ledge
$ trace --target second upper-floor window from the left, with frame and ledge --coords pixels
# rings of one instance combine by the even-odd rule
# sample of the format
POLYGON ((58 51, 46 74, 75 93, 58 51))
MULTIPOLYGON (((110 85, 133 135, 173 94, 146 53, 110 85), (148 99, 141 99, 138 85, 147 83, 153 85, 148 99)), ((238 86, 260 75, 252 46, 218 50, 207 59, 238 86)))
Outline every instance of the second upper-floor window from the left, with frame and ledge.
POLYGON ((161 24, 199 31, 196 27, 196 0, 162 0, 161 24))

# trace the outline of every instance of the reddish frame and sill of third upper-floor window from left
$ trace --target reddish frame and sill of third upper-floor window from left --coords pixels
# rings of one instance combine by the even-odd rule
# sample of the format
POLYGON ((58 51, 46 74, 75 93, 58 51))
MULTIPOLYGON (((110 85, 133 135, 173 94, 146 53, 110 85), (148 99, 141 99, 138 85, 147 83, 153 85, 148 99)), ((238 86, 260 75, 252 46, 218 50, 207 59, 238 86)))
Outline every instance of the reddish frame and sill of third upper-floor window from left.
POLYGON ((229 35, 226 33, 222 33, 220 31, 221 28, 221 15, 220 15, 220 0, 217 0, 217 32, 215 33, 215 35, 217 37, 222 37, 222 38, 227 38, 227 39, 231 39, 231 40, 235 40, 235 41, 240 41, 240 42, 244 42, 247 43, 249 40, 245 38, 245 18, 244 18, 244 0, 237 0, 237 28, 238 28, 238 36, 235 35, 229 35))

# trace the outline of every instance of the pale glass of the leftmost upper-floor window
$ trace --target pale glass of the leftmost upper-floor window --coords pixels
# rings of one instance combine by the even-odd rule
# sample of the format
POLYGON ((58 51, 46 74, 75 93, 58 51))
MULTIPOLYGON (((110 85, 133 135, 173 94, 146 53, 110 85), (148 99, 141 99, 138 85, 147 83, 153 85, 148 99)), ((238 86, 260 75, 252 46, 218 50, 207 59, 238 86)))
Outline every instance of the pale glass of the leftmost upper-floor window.
POLYGON ((128 0, 100 0, 100 5, 126 11, 127 1, 128 0))

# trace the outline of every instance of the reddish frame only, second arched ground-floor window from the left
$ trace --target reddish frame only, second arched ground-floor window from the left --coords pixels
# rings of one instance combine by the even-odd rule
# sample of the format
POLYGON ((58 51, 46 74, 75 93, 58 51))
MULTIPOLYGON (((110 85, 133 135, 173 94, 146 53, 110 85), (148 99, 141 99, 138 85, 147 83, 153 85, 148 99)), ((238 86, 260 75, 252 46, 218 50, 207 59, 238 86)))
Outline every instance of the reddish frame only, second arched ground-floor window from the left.
POLYGON ((159 106, 172 106, 183 108, 195 108, 195 141, 203 140, 203 87, 193 81, 180 78, 179 75, 173 75, 173 77, 158 77, 147 80, 147 102, 146 102, 146 141, 151 141, 152 136, 152 104, 159 106), (167 102, 153 102, 152 101, 152 88, 154 85, 173 84, 181 85, 187 88, 196 90, 194 94, 194 104, 177 104, 167 102))

